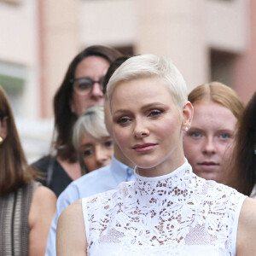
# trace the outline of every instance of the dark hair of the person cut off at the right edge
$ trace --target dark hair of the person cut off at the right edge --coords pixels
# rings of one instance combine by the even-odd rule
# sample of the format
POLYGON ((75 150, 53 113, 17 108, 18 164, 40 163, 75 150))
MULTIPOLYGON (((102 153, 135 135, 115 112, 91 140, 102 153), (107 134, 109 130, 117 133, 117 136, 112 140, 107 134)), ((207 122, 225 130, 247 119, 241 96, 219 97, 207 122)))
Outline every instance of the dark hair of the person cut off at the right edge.
POLYGON ((234 149, 234 170, 238 173, 238 190, 250 195, 256 182, 256 92, 247 103, 241 119, 238 121, 236 148, 234 149))

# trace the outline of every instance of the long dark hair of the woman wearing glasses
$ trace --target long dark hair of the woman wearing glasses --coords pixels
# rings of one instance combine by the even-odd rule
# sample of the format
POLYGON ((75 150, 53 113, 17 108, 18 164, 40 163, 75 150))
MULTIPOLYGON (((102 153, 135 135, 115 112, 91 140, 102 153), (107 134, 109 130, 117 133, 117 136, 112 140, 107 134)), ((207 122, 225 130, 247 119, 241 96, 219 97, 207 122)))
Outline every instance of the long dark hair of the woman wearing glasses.
POLYGON ((76 55, 67 68, 67 73, 54 97, 55 130, 57 134, 52 146, 61 159, 67 159, 70 162, 77 160, 72 143, 72 134, 73 125, 78 117, 70 108, 70 100, 73 96, 73 87, 70 80, 74 78, 76 67, 89 56, 102 57, 111 64, 120 55, 116 49, 103 45, 92 45, 76 55))

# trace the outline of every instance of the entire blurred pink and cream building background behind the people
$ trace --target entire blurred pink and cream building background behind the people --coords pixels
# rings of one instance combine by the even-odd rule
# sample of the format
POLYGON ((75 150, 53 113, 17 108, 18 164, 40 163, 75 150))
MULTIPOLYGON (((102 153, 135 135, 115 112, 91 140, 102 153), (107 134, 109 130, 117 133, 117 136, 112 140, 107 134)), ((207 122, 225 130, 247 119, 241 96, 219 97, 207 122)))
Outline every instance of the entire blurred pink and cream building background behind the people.
POLYGON ((49 152, 53 96, 81 49, 169 55, 189 90, 256 83, 255 0, 0 0, 0 84, 31 163, 49 152))

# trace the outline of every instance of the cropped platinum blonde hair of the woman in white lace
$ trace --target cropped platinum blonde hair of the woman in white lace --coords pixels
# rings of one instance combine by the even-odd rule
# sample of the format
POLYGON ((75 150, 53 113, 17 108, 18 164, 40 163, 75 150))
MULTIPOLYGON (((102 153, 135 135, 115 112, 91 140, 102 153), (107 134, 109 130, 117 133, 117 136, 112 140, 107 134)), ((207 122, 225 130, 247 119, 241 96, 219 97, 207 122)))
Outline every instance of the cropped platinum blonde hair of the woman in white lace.
MULTIPOLYGON (((166 56, 137 55, 125 61, 109 79, 107 86, 108 101, 111 109, 113 91, 122 82, 136 79, 160 79, 170 90, 172 98, 179 110, 183 109, 188 99, 188 88, 183 75, 172 60, 166 56)), ((157 86, 157 85, 156 85, 157 86)))

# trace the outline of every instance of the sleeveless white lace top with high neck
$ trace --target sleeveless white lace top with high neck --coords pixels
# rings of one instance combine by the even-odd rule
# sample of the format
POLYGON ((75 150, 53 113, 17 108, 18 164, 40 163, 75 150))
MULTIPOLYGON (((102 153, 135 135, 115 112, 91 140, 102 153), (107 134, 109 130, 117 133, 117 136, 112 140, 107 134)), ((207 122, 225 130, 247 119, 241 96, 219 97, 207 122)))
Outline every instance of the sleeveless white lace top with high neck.
POLYGON ((82 200, 88 256, 236 255, 245 195, 197 177, 188 162, 82 200))

